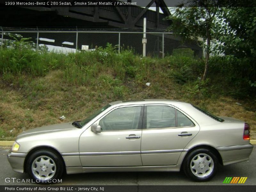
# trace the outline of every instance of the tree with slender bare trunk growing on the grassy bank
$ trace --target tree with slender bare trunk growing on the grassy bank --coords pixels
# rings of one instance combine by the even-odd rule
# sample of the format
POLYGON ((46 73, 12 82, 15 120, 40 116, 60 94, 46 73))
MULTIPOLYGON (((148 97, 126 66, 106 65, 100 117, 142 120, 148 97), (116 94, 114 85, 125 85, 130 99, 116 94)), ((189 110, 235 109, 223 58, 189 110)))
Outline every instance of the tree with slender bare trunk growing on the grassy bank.
POLYGON ((206 41, 203 81, 207 76, 212 29, 215 26, 215 15, 218 9, 217 0, 191 0, 189 7, 176 8, 175 12, 167 17, 167 19, 172 20, 168 29, 175 35, 182 37, 183 40, 198 40, 201 37, 204 42, 206 41))

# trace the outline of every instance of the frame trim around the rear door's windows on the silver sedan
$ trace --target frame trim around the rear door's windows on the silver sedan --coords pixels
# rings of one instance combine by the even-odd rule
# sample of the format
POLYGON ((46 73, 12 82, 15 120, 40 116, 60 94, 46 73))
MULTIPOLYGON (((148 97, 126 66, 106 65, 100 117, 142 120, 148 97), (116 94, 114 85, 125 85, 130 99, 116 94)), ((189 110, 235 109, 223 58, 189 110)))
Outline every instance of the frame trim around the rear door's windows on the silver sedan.
POLYGON ((177 109, 175 106, 173 105, 168 105, 168 104, 146 104, 145 107, 144 107, 144 118, 143 118, 143 126, 142 126, 142 130, 154 130, 154 129, 176 129, 176 128, 184 128, 184 127, 195 127, 196 126, 196 122, 195 121, 192 121, 191 118, 188 117, 188 115, 185 115, 183 113, 183 111, 177 109), (172 107, 175 109, 175 120, 176 120, 176 123, 175 123, 175 127, 164 127, 164 128, 150 128, 150 129, 147 129, 147 106, 168 106, 168 107, 172 107), (192 126, 182 126, 182 127, 178 127, 178 121, 177 121, 177 110, 183 114, 184 116, 186 116, 194 125, 192 126))

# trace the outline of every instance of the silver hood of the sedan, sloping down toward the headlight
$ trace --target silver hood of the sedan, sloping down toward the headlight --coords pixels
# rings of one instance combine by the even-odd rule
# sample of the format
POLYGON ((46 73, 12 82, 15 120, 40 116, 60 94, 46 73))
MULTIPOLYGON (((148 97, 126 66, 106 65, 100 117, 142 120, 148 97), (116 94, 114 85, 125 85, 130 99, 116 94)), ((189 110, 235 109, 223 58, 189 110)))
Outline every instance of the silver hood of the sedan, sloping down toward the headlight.
POLYGON ((45 133, 67 131, 67 130, 71 130, 71 129, 76 129, 72 125, 72 122, 47 125, 47 126, 43 126, 43 127, 37 127, 34 129, 30 129, 28 131, 24 131, 17 136, 17 139, 20 139, 23 137, 28 137, 28 136, 39 135, 39 134, 45 134, 45 133))

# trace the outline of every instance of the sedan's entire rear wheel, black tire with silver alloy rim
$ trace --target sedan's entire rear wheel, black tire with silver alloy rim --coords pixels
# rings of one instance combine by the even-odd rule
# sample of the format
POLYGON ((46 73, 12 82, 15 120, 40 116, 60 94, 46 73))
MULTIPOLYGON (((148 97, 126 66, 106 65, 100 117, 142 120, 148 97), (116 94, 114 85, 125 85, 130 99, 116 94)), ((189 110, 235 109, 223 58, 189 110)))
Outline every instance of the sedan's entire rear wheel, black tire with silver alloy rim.
POLYGON ((195 149, 190 152, 183 163, 185 174, 195 181, 208 181, 216 173, 218 161, 216 155, 209 149, 195 149))

